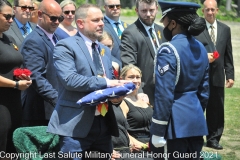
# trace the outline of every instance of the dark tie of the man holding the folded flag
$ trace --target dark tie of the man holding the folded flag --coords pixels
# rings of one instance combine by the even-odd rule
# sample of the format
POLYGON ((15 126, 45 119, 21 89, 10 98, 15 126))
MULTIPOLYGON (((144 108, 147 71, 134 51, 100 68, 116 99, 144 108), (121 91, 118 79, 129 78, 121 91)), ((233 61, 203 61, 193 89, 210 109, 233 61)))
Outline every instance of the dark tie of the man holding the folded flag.
POLYGON ((97 74, 99 76, 103 76, 103 66, 100 59, 100 54, 98 53, 98 50, 97 50, 97 44, 94 42, 92 43, 92 57, 93 57, 93 63, 97 70, 97 74))

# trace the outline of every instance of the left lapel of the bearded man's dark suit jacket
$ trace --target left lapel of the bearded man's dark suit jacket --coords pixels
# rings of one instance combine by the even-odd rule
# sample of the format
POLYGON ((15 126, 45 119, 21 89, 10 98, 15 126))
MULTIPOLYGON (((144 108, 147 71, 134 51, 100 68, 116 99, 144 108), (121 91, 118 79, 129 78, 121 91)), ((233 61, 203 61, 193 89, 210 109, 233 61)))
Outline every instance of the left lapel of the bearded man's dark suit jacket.
POLYGON ((144 26, 139 21, 139 19, 136 21, 136 26, 138 26, 137 28, 139 29, 139 32, 142 34, 143 38, 145 39, 145 41, 148 45, 148 48, 150 49, 151 56, 154 58, 155 57, 155 51, 154 51, 154 48, 152 46, 152 42, 150 40, 150 37, 147 34, 147 31, 145 30, 144 26))

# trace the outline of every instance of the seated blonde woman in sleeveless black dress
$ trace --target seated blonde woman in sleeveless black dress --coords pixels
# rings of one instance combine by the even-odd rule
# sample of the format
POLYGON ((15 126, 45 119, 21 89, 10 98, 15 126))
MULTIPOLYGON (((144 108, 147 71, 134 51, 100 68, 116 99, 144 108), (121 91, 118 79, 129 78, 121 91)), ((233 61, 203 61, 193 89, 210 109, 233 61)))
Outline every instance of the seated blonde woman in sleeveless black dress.
MULTIPOLYGON (((114 113, 117 118, 119 137, 112 137, 113 147, 117 154, 113 152, 114 158, 126 159, 145 159, 151 160, 147 152, 148 141, 150 139, 150 121, 153 113, 152 107, 144 100, 139 98, 138 89, 141 85, 141 70, 129 64, 121 70, 120 79, 132 80, 136 89, 129 94, 121 103, 120 108, 114 107, 114 113), (126 131, 127 129, 127 131, 126 131), (129 157, 126 153, 135 153, 134 157, 129 157), (124 154, 125 153, 125 154, 124 154), (145 157, 140 157, 140 156, 145 157)), ((131 154, 133 155, 133 154, 131 154)))

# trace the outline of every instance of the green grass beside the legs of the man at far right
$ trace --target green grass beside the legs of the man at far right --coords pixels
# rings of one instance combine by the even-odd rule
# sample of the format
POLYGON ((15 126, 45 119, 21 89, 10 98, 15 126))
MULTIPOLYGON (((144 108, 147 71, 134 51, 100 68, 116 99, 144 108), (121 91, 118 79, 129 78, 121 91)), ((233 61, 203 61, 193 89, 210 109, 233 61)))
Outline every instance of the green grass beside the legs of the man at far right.
POLYGON ((204 147, 204 151, 217 152, 222 160, 240 160, 240 88, 225 89, 225 128, 220 143, 223 150, 204 147))

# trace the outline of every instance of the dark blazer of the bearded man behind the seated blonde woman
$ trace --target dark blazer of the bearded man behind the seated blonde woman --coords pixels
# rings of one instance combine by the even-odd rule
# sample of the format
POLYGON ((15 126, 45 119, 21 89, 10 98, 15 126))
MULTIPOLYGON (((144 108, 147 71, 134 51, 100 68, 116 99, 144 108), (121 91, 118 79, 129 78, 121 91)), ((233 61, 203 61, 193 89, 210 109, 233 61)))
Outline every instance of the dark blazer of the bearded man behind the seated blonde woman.
MULTIPOLYGON (((163 41, 163 27, 154 24, 159 44, 163 41)), ((153 81, 155 51, 151 37, 138 19, 124 30, 121 39, 121 59, 123 66, 133 64, 142 71, 142 89, 148 95, 150 103, 154 104, 155 85, 153 81)))

